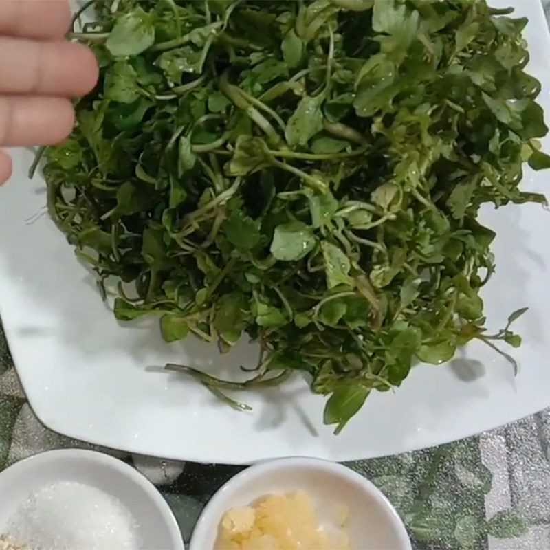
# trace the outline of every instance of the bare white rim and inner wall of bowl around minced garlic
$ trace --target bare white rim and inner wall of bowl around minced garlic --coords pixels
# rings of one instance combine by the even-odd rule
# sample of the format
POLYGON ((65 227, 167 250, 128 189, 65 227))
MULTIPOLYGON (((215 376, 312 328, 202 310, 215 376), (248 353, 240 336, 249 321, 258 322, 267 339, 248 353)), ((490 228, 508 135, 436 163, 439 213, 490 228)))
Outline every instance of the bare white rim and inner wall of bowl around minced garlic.
POLYGON ((386 496, 360 474, 320 459, 289 458, 256 464, 230 479, 203 510, 189 550, 213 550, 225 511, 248 506, 268 494, 304 490, 316 505, 320 524, 336 523, 341 505, 349 508, 351 547, 358 550, 411 550, 401 518, 386 496))

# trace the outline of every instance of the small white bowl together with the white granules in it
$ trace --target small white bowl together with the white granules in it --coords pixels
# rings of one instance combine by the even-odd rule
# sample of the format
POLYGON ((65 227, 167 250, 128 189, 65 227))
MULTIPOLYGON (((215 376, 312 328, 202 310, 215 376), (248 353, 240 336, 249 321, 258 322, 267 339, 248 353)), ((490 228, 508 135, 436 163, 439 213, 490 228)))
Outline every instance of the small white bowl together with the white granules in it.
POLYGON ((87 450, 37 454, 0 474, 0 550, 184 550, 157 489, 87 450))

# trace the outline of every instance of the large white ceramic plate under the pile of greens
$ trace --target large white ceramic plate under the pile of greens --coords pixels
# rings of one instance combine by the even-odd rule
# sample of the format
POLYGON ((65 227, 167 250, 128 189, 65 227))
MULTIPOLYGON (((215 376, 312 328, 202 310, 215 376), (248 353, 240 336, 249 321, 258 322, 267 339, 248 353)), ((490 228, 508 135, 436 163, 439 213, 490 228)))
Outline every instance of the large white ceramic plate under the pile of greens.
MULTIPOLYGON (((527 16, 530 72, 542 81, 539 101, 550 113, 550 40, 538 0, 499 0, 527 16)), ((546 141, 547 150, 550 143, 546 141)), ((483 344, 447 366, 418 366, 395 393, 369 397, 360 415, 334 437, 322 425, 322 397, 298 377, 281 389, 239 397, 236 412, 193 380, 150 369, 194 364, 227 376, 253 365, 243 340, 228 355, 186 340, 168 346, 156 323, 122 327, 102 303, 94 278, 43 212, 45 188, 29 181, 29 151, 14 151, 14 177, 0 190, 0 314, 17 370, 36 415, 78 439, 201 462, 253 463, 281 456, 342 461, 394 454, 466 437, 550 405, 550 215, 537 205, 487 208, 497 232, 498 272, 486 287, 492 329, 529 306, 514 327, 524 343, 513 350, 521 368, 483 344)), ((550 192, 548 173, 525 171, 523 187, 550 192)))

